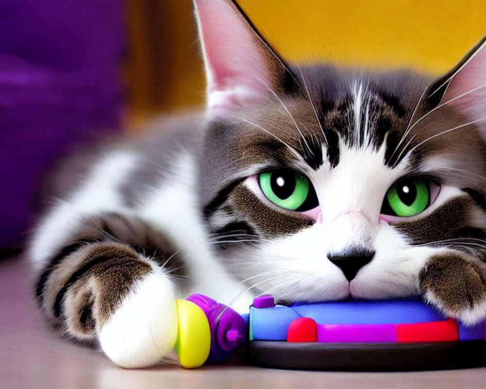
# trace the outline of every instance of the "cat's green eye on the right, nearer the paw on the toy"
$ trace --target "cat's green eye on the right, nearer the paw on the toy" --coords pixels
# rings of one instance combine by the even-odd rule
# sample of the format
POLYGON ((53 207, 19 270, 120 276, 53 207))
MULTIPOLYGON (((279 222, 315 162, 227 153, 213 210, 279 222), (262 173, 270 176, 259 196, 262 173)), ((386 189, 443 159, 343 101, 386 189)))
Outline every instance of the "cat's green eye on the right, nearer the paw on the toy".
POLYGON ((429 181, 420 177, 399 180, 388 189, 381 213, 407 217, 424 211, 430 203, 429 181))

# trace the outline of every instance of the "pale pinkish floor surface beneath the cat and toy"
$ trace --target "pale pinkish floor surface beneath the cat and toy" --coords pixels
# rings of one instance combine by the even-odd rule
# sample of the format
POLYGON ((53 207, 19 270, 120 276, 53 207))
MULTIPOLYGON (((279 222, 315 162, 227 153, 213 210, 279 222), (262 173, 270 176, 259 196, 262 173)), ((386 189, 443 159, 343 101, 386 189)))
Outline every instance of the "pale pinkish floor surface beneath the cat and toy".
POLYGON ((486 388, 486 368, 401 373, 285 371, 241 365, 126 370, 60 339, 32 299, 29 267, 0 261, 0 388, 486 388))

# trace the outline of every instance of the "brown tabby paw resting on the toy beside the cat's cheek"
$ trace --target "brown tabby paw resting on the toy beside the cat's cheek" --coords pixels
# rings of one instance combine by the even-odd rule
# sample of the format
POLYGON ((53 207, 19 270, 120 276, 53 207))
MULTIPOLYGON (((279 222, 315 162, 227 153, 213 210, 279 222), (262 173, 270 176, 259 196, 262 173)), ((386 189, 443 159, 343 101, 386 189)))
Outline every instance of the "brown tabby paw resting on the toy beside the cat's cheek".
POLYGON ((425 301, 464 324, 486 318, 486 265, 449 252, 430 258, 420 274, 425 301))

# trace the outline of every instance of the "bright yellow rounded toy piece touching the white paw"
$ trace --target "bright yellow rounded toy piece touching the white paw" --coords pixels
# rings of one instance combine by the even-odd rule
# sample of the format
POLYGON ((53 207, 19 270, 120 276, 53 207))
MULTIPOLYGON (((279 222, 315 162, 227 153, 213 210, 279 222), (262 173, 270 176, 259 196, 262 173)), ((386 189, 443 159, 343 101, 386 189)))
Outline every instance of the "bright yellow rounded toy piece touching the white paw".
POLYGON ((177 299, 176 305, 179 324, 175 351, 182 367, 197 368, 206 362, 211 347, 208 319, 191 301, 177 299))

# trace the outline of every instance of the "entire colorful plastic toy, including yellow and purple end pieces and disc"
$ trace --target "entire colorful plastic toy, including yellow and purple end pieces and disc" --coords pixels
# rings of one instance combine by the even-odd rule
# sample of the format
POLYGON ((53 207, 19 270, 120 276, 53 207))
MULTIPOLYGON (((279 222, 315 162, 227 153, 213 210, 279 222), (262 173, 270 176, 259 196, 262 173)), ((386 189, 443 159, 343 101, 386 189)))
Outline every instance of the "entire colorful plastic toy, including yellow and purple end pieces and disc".
POLYGON ((176 350, 184 367, 226 359, 245 341, 246 331, 250 360, 259 366, 433 370, 486 365, 484 322, 467 327, 417 300, 283 306, 265 295, 254 299, 243 318, 196 294, 178 301, 178 309, 176 350))

